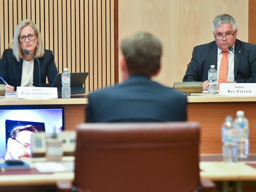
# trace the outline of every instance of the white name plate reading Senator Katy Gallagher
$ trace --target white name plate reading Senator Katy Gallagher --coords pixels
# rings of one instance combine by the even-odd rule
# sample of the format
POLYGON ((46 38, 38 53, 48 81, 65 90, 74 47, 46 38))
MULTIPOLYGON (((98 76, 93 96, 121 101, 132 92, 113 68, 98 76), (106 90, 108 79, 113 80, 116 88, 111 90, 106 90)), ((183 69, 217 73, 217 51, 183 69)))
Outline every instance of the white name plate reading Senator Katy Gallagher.
POLYGON ((18 99, 57 99, 57 88, 17 87, 18 99))

